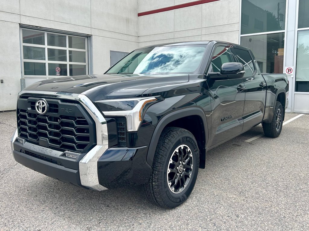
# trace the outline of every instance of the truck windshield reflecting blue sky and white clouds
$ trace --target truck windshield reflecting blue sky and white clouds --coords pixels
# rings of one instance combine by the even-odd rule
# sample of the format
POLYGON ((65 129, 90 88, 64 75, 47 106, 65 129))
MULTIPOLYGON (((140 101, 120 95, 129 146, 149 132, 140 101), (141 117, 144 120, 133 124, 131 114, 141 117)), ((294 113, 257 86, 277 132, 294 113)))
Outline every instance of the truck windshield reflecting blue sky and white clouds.
POLYGON ((150 47, 133 51, 106 74, 195 73, 206 45, 150 47))

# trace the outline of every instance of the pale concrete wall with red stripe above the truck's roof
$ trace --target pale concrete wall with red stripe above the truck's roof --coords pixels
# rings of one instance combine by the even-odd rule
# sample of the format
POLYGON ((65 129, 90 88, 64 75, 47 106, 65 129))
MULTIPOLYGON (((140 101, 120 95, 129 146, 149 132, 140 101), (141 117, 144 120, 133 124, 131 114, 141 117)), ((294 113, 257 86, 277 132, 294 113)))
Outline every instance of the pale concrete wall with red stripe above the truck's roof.
MULTIPOLYGON (((194 2, 138 0, 138 12, 194 2)), ((239 0, 221 0, 138 17, 139 47, 156 43, 223 40, 239 43, 239 0), (151 23, 151 24, 150 24, 151 23)))

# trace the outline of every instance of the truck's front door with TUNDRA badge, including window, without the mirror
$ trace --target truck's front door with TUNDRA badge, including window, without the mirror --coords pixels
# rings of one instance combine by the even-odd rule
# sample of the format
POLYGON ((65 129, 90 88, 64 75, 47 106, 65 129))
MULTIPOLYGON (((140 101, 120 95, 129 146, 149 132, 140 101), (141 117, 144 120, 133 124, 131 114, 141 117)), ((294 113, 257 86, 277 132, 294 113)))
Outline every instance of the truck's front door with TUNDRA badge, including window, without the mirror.
MULTIPOLYGON (((223 63, 235 62, 230 47, 218 46, 212 57, 208 72, 220 72, 223 63)), ((243 79, 207 79, 212 95, 211 101, 211 146, 234 136, 243 128, 245 94, 243 79)))

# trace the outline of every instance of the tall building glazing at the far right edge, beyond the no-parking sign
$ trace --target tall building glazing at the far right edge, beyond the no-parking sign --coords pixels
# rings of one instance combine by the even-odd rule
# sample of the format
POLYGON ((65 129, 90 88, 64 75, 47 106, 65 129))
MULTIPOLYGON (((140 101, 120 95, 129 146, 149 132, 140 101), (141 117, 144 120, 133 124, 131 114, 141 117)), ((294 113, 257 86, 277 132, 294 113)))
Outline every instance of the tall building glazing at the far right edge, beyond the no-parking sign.
POLYGON ((295 91, 309 92, 309 1, 299 0, 295 91))

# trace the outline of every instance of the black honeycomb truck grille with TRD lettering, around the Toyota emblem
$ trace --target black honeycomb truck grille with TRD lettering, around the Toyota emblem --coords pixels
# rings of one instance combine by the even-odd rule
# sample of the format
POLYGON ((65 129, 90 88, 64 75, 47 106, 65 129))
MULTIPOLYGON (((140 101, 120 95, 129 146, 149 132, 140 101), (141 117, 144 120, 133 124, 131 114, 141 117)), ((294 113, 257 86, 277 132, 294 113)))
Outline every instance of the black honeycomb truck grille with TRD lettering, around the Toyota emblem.
POLYGON ((49 110, 39 115, 35 110, 38 99, 18 99, 19 137, 59 151, 83 152, 95 144, 94 122, 77 101, 45 99, 49 110))

